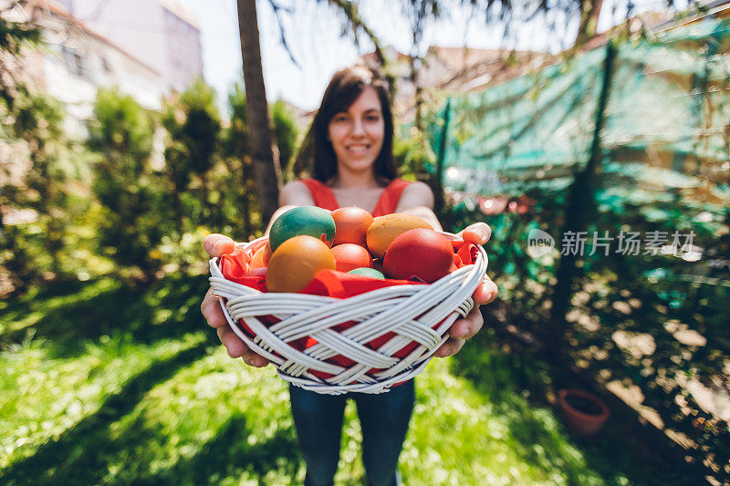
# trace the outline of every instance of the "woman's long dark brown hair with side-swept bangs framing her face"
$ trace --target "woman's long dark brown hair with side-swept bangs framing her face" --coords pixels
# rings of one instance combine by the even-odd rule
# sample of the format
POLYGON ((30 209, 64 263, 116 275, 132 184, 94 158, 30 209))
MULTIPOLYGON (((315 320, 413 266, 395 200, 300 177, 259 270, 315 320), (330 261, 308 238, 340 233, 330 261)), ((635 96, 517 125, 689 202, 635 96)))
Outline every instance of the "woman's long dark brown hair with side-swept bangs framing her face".
POLYGON ((332 143, 328 140, 329 122, 338 113, 347 111, 360 93, 369 87, 378 93, 382 118, 385 122, 381 153, 375 159, 375 179, 385 186, 396 178, 393 159, 393 116, 388 84, 376 69, 356 65, 340 69, 329 81, 322 103, 309 129, 308 138, 313 145, 314 156, 313 177, 318 181, 328 182, 337 175, 337 157, 332 143))

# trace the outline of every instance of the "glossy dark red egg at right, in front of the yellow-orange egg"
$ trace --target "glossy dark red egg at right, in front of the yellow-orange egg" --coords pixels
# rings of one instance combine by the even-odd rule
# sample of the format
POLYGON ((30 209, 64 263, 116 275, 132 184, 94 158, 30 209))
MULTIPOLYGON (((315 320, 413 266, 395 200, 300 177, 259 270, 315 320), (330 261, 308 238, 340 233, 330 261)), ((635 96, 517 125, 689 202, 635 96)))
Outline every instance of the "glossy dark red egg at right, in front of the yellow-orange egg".
POLYGON ((391 278, 412 276, 429 284, 449 274, 454 249, 443 234, 417 228, 398 236, 383 257, 383 270, 391 278))

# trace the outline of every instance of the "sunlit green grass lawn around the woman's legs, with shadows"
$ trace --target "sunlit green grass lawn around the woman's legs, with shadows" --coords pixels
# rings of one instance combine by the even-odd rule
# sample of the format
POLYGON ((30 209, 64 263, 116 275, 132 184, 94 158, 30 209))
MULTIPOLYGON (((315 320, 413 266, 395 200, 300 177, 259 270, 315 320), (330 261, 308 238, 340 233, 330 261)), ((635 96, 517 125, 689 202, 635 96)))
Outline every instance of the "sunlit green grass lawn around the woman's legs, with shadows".
MULTIPOLYGON (((109 279, 0 302, 0 483, 299 484, 287 387, 203 324, 204 276, 109 279)), ((621 424, 579 439, 537 399, 549 369, 489 331, 417 378, 407 484, 681 484, 621 424), (628 437, 627 437, 628 435, 628 437)), ((338 484, 361 484, 349 403, 338 484)))

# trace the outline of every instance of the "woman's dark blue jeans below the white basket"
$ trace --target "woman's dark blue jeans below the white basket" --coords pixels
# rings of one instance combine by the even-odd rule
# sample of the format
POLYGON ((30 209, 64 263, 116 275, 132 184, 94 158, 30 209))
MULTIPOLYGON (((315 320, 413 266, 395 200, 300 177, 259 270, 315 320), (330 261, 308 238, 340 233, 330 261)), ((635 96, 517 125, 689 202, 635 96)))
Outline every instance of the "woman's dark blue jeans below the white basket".
POLYGON ((339 461, 347 398, 355 400, 362 428, 362 461, 372 486, 397 484, 396 468, 411 419, 413 380, 387 393, 320 395, 289 385, 299 448, 307 463, 306 486, 332 484, 339 461))

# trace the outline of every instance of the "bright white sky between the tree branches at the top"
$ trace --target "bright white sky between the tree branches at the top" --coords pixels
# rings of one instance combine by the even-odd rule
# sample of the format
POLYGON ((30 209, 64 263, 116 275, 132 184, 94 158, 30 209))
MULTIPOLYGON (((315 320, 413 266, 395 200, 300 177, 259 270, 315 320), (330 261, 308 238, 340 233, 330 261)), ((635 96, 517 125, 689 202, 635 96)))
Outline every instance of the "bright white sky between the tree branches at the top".
MULTIPOLYGON (((621 2, 623 0, 616 0, 621 2)), ((225 107, 227 93, 235 82, 241 82, 241 52, 235 0, 178 0, 197 17, 203 47, 203 74, 218 93, 218 104, 225 107)), ((659 9, 663 0, 644 0, 639 10, 659 9)), ((349 66, 372 45, 366 41, 355 46, 351 36, 341 36, 342 22, 334 10, 314 0, 275 0, 276 5, 289 8, 282 13, 287 43, 297 60, 290 59, 280 40, 280 29, 273 8, 267 0, 257 2, 258 26, 261 39, 262 65, 266 83, 266 98, 284 98, 301 109, 316 109, 329 78, 340 67, 349 66)), ((403 53, 411 50, 410 23, 402 15, 400 2, 393 0, 362 0, 361 16, 381 39, 403 53)), ((620 19, 621 4, 604 0, 599 29, 604 30, 620 19)), ((568 47, 571 35, 550 33, 536 23, 516 29, 512 38, 501 36, 498 27, 486 29, 481 19, 463 9, 450 9, 443 20, 430 23, 423 34, 422 51, 430 45, 472 48, 508 47, 559 52, 568 47), (568 40, 569 39, 569 40, 568 40)), ((575 34, 572 34, 575 36, 575 34)))

